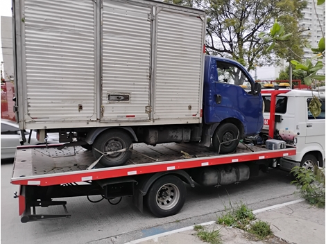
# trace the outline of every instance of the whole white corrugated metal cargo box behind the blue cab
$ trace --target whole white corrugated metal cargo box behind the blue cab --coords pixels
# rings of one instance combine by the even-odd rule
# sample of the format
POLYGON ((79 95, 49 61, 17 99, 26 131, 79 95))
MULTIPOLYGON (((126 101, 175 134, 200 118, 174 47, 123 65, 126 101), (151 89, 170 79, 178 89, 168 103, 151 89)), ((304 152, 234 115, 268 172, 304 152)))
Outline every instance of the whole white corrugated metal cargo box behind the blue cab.
POLYGON ((201 122, 202 10, 145 0, 13 7, 20 128, 201 122))

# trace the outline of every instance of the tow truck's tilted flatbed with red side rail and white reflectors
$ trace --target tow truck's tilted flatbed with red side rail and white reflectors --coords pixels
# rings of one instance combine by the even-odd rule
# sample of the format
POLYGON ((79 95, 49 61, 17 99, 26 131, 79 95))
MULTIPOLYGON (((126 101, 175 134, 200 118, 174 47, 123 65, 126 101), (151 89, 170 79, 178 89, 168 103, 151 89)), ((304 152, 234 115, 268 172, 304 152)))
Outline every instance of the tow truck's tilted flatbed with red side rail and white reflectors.
POLYGON ((17 148, 12 184, 51 186, 295 155, 295 148, 268 150, 241 143, 236 153, 228 155, 218 155, 209 148, 191 143, 164 143, 157 146, 137 143, 126 165, 102 168, 96 164, 94 168, 88 169, 95 161, 91 151, 79 146, 62 150, 57 147, 17 148))

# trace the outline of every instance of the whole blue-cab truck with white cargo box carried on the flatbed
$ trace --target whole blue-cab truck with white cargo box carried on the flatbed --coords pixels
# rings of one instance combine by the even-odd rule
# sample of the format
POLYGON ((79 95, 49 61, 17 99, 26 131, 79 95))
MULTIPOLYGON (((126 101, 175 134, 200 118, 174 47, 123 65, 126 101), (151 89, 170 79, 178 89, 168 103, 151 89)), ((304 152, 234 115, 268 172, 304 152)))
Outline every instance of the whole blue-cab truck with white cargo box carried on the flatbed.
POLYGON ((14 110, 20 130, 37 130, 41 143, 59 132, 63 146, 120 166, 133 143, 232 153, 263 126, 260 85, 239 62, 205 55, 202 10, 147 0, 15 0, 13 19, 14 110))

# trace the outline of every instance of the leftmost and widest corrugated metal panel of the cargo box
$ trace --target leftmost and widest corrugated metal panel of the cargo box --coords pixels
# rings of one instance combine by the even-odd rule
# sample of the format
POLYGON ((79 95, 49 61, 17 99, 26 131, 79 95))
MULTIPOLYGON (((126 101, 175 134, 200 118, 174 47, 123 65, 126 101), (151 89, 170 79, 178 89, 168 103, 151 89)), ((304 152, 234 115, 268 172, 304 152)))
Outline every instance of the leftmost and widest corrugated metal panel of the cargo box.
POLYGON ((25 1, 26 92, 35 121, 94 114, 94 21, 92 0, 25 1))

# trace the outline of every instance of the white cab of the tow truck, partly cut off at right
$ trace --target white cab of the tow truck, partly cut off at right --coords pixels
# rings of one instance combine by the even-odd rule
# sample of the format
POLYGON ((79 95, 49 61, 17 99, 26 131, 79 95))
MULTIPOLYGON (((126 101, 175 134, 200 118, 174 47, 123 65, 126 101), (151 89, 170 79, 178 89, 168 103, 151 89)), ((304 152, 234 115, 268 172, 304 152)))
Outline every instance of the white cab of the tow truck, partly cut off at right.
MULTIPOLYGON (((325 94, 308 90, 283 89, 275 98, 275 129, 273 139, 281 139, 296 147, 296 155, 280 159, 280 168, 291 171, 294 166, 312 168, 325 166, 325 94), (321 113, 314 118, 308 106, 319 98, 321 113)), ((264 127, 271 126, 271 97, 275 89, 262 91, 264 98, 264 127)), ((275 91, 276 92, 276 91, 275 91)), ((272 125, 273 126, 273 125, 272 125)))

